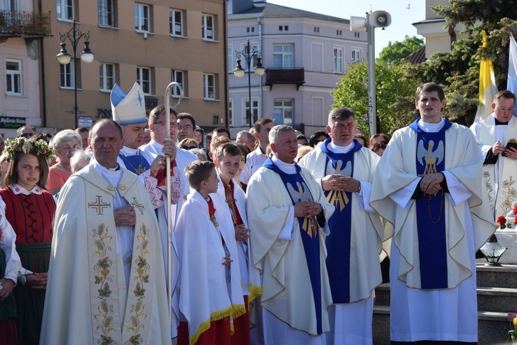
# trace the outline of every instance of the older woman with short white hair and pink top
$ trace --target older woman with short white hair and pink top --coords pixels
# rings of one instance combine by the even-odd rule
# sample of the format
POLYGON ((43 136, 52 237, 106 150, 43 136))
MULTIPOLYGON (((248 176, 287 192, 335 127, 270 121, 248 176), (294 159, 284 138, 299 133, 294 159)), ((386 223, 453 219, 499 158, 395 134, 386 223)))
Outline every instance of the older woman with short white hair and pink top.
POLYGON ((47 183, 50 194, 57 194, 72 174, 70 158, 77 149, 83 147, 82 143, 79 133, 72 129, 65 129, 52 138, 50 145, 56 150, 58 163, 50 167, 47 183))

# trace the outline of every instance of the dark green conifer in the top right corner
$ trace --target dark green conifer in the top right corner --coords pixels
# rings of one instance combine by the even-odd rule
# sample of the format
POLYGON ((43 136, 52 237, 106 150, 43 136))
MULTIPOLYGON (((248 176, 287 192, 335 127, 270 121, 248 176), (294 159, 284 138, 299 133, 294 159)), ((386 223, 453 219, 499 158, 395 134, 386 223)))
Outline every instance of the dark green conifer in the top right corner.
POLYGON ((517 1, 451 0, 450 6, 433 8, 445 17, 447 27, 464 24, 467 39, 452 43, 452 51, 432 56, 430 63, 412 71, 421 81, 443 85, 447 96, 444 116, 470 125, 478 107, 479 67, 481 59, 491 59, 498 90, 505 90, 508 73, 509 33, 517 32, 517 1), (482 47, 481 30, 488 36, 482 47))

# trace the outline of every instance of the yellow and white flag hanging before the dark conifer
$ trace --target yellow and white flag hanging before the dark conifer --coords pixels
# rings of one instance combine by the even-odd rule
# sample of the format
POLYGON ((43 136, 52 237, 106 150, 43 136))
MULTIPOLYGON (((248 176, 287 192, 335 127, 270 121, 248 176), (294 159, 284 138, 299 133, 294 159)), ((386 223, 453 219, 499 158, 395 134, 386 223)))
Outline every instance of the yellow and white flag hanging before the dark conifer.
MULTIPOLYGON (((483 34, 483 47, 487 46, 487 33, 483 34)), ((492 113, 491 104, 497 93, 496 77, 494 76, 494 65, 490 59, 481 59, 479 69, 479 102, 481 103, 476 112, 474 123, 483 120, 492 113)))

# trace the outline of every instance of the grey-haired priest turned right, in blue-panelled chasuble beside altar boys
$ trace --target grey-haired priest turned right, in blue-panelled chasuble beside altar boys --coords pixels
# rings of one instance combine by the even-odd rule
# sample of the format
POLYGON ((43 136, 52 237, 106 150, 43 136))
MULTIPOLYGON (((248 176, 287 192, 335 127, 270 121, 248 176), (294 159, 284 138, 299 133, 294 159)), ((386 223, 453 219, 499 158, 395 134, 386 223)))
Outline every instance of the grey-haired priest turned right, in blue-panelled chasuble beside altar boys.
POLYGON ((332 304, 325 258, 334 211, 318 182, 294 163, 296 132, 271 129, 268 158, 247 187, 252 262, 262 271, 265 344, 325 344, 332 304))

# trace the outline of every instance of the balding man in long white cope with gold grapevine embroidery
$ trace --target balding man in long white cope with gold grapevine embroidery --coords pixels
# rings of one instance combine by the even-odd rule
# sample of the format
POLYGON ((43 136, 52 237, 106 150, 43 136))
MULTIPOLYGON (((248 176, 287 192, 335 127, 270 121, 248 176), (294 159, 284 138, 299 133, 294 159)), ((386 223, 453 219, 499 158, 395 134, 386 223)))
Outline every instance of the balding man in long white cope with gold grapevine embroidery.
POLYGON ((54 220, 41 344, 170 344, 154 209, 116 163, 121 128, 90 129, 94 160, 63 189, 54 220))

